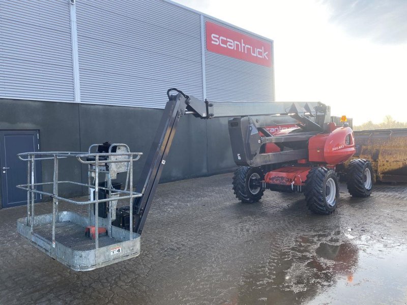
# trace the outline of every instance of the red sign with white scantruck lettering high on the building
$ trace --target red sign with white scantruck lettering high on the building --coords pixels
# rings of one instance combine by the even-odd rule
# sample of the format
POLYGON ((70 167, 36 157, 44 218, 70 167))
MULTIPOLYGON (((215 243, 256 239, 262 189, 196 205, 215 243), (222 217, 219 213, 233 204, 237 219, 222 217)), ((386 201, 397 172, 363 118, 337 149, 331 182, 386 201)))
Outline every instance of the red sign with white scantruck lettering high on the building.
POLYGON ((208 51, 271 67, 271 43, 207 21, 208 51))

